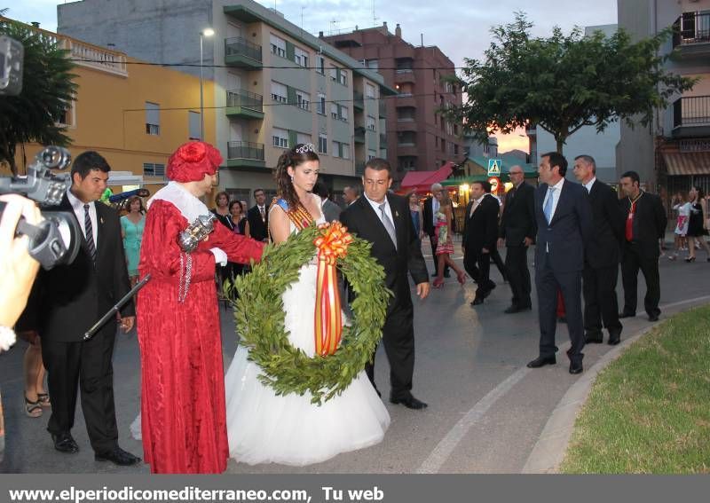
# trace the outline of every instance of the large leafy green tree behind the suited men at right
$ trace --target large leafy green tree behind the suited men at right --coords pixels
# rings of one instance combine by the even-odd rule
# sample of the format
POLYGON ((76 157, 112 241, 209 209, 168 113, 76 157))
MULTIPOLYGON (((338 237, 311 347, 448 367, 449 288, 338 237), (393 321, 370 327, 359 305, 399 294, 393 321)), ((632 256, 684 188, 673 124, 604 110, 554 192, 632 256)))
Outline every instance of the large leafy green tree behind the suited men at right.
POLYGON ((623 29, 607 37, 554 28, 549 37, 533 37, 532 27, 517 12, 515 22, 491 29, 485 61, 466 59, 459 81, 468 101, 445 114, 480 141, 489 131, 537 124, 562 153, 565 140, 583 126, 602 132, 619 120, 647 125, 654 110, 695 83, 664 68, 669 56, 659 49, 670 29, 632 43, 623 29))

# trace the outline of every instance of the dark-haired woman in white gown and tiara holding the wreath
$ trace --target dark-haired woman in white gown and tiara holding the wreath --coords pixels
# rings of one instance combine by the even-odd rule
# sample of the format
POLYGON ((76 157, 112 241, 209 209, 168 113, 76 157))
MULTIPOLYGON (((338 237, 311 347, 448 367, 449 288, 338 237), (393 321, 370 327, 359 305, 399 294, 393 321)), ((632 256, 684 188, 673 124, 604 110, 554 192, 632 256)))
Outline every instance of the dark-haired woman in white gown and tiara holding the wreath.
MULTIPOLYGON (((291 220, 298 218, 296 211, 317 224, 325 222, 321 200, 311 193, 319 172, 313 150, 310 144, 296 145, 280 156, 276 181, 282 200, 269 213, 276 243, 297 232, 291 220)), ((305 264, 298 281, 282 295, 288 340, 309 357, 315 354, 316 277, 315 263, 305 264)), ((310 393, 277 396, 258 380, 261 368, 247 356, 240 346, 225 376, 229 452, 237 461, 304 466, 382 441, 390 414, 364 371, 340 396, 313 405, 310 393)))

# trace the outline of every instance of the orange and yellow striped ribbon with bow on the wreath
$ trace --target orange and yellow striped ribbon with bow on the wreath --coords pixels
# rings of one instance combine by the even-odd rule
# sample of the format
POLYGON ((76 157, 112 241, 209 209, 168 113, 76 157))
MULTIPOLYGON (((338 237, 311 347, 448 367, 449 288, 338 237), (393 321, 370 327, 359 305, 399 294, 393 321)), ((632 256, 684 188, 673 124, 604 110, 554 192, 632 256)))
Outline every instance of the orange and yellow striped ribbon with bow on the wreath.
POLYGON ((335 353, 343 334, 335 263, 347 255, 352 236, 340 222, 320 224, 318 228, 320 236, 313 241, 318 250, 315 339, 316 353, 325 357, 335 353))

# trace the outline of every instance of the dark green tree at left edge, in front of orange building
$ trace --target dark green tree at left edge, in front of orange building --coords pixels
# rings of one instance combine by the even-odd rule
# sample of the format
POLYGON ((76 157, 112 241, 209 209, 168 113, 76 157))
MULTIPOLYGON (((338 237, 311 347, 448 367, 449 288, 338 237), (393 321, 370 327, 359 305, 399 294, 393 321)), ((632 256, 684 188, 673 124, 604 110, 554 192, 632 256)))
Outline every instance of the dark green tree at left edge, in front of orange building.
POLYGON ((17 174, 15 151, 29 142, 66 146, 66 128, 57 124, 75 97, 69 51, 57 40, 17 21, 0 19, 0 35, 22 43, 25 49, 22 91, 0 97, 0 161, 17 174))

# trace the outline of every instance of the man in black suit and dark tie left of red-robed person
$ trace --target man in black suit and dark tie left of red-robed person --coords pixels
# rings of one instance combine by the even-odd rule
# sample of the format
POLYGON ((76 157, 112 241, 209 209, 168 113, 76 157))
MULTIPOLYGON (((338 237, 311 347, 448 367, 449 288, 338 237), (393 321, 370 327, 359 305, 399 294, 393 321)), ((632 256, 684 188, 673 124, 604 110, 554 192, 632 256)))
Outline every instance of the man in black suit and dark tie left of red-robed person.
MULTIPOLYGON (((112 357, 116 319, 84 340, 83 335, 130 290, 121 225, 113 208, 97 202, 106 190, 110 166, 96 152, 79 155, 72 166, 72 185, 60 209, 76 216, 83 243, 75 261, 43 271, 28 325, 42 336, 51 418, 47 430, 59 452, 78 452, 71 435, 77 387, 91 447, 98 461, 133 465, 140 459, 118 446, 112 357)), ((121 326, 130 331, 133 302, 121 311, 121 326)))

